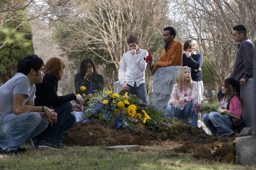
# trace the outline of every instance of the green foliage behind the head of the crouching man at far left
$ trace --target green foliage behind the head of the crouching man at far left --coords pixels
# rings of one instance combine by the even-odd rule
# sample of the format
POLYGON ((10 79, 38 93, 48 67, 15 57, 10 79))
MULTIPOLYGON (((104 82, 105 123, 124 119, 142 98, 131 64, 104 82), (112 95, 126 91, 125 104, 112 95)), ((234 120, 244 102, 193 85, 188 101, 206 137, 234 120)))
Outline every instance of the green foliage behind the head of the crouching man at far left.
POLYGON ((0 51, 0 81, 2 83, 14 76, 20 58, 27 54, 34 54, 30 22, 18 26, 20 24, 22 24, 20 20, 8 21, 3 25, 6 27, 0 28, 0 42, 6 42, 0 51))

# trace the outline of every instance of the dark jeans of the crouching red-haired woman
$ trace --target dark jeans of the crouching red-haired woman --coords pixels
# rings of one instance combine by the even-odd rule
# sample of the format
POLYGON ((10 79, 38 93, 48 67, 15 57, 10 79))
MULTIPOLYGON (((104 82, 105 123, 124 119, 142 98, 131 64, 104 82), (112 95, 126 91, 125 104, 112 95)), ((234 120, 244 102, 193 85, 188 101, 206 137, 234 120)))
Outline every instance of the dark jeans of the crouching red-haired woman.
POLYGON ((64 131, 74 126, 76 122, 75 116, 71 114, 72 104, 70 102, 66 102, 60 106, 49 106, 48 108, 54 109, 58 114, 57 123, 53 123, 52 126, 49 124, 45 131, 36 138, 39 140, 43 139, 44 141, 52 144, 61 144, 64 131))

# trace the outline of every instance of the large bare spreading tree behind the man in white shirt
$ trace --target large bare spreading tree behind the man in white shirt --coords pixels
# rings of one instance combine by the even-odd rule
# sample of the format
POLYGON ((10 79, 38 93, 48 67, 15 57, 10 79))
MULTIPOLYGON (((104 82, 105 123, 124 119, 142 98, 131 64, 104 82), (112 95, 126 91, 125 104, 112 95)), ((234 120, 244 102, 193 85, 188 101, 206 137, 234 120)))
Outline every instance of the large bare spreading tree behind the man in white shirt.
MULTIPOLYGON (((168 0, 77 0, 78 17, 56 22, 54 38, 73 61, 85 57, 114 67, 117 80, 122 56, 129 51, 130 35, 138 37, 140 47, 152 52, 156 60, 163 46, 162 29, 169 25, 168 0)), ((76 67, 79 67, 78 65, 76 67)), ((109 69, 106 70, 110 73, 109 69)), ((112 72, 113 73, 113 72, 112 72)))

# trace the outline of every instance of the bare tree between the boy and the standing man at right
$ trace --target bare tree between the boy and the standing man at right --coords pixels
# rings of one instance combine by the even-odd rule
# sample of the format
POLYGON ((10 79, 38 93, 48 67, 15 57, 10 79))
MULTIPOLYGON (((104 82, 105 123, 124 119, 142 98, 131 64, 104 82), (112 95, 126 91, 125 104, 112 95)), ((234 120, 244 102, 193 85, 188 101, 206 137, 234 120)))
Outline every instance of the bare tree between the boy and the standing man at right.
POLYGON ((256 24, 255 0, 170 0, 176 9, 176 22, 183 23, 184 39, 197 41, 208 58, 207 72, 214 78, 216 92, 233 70, 237 43, 233 27, 244 24, 253 39, 256 24))

